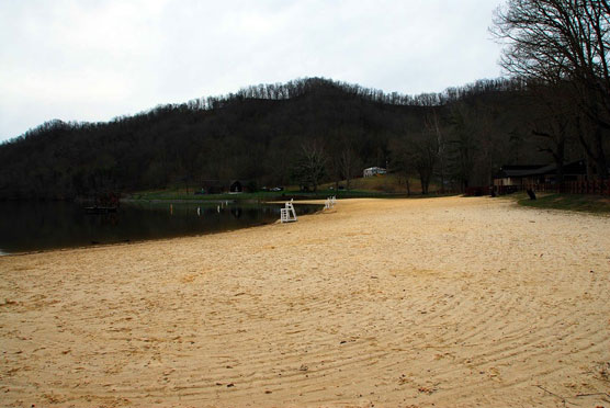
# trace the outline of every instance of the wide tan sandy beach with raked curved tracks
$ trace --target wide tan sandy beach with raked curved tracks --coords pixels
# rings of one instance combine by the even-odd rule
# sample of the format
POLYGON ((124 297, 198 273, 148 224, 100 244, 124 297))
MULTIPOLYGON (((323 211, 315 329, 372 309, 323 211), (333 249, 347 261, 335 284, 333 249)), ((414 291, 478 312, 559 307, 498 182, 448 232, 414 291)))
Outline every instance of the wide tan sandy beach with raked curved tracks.
POLYGON ((609 217, 487 197, 2 257, 0 405, 609 407, 609 217))

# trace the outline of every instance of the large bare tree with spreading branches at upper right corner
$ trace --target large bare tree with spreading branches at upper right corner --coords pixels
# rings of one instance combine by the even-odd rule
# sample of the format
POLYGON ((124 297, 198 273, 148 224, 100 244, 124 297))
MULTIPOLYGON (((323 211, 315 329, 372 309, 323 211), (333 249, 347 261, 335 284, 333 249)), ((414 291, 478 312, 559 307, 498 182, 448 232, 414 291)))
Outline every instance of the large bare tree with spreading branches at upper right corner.
POLYGON ((511 75, 552 86, 566 81, 572 101, 595 129, 581 137, 598 174, 610 129, 610 3, 608 0, 509 0, 492 33, 506 43, 500 65, 511 75))

